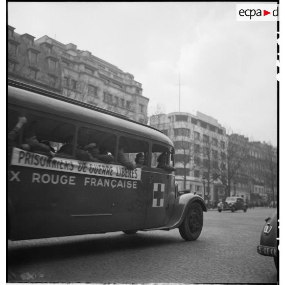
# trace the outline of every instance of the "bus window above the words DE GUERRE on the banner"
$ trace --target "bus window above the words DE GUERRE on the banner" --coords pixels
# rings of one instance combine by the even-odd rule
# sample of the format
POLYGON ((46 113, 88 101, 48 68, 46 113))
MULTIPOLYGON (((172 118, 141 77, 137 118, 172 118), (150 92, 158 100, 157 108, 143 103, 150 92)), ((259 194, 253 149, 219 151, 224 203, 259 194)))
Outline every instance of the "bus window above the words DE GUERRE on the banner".
POLYGON ((91 143, 99 144, 101 154, 111 153, 114 155, 116 136, 93 128, 80 128, 77 137, 78 146, 84 148, 91 143))

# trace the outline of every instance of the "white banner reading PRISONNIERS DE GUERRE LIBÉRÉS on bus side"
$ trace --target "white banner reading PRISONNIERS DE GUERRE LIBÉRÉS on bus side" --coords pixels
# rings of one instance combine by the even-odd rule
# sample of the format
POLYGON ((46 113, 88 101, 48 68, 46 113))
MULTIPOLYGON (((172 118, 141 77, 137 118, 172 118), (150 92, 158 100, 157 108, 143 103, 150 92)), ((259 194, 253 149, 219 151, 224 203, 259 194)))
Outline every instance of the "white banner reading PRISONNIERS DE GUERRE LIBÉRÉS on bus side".
POLYGON ((128 170, 121 165, 93 161, 80 161, 60 157, 49 158, 45 155, 17 148, 13 149, 11 164, 36 169, 47 169, 129 180, 140 180, 141 176, 140 168, 128 170))

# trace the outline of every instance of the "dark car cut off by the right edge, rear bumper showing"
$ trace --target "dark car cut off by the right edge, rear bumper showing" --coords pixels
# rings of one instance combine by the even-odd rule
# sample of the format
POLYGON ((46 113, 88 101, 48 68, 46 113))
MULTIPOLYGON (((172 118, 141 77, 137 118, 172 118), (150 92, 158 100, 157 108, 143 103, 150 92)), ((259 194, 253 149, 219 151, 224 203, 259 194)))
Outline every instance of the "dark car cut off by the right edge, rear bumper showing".
POLYGON ((273 256, 276 269, 277 261, 277 211, 265 220, 265 225, 260 236, 257 252, 261 255, 273 256))

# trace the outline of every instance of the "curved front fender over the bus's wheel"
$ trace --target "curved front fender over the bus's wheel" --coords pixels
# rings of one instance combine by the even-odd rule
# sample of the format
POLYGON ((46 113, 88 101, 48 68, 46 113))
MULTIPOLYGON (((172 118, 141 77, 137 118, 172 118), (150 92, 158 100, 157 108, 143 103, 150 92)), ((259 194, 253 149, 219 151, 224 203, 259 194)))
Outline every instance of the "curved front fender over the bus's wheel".
POLYGON ((184 217, 189 207, 194 202, 198 203, 204 212, 207 211, 206 204, 201 196, 197 194, 192 194, 192 193, 187 193, 187 194, 178 196, 175 199, 172 217, 169 220, 168 224, 165 226, 165 228, 168 228, 168 229, 178 228, 180 224, 182 223, 182 221, 184 220, 184 217))

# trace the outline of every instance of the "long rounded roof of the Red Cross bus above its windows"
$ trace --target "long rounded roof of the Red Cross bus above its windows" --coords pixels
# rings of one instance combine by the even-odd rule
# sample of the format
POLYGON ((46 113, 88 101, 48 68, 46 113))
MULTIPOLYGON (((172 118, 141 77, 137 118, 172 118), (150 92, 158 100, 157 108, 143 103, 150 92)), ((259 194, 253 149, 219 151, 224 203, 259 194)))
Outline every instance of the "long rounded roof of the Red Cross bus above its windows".
POLYGON ((171 139, 161 131, 125 115, 18 81, 9 80, 8 85, 9 104, 148 137, 173 146, 171 139))

